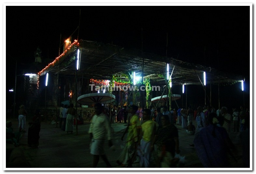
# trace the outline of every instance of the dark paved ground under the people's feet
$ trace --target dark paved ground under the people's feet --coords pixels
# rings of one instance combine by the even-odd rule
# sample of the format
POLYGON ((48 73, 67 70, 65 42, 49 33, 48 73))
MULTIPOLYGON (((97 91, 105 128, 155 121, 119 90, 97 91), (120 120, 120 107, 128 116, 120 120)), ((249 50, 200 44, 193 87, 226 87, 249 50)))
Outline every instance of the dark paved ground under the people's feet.
MULTIPOLYGON (((9 119, 10 120, 10 119, 9 119)), ((18 131, 18 120, 11 119, 14 131, 18 131)), ((27 120, 27 123, 29 121, 27 120)), ((195 121, 194 121, 195 123, 195 121)), ((115 151, 107 148, 106 155, 113 166, 113 168, 121 168, 115 161, 119 157, 121 150, 124 147, 124 142, 121 141, 121 136, 126 128, 125 123, 114 123, 113 128, 113 143, 116 147, 115 151)), ((176 125, 179 131, 180 150, 181 155, 185 156, 186 163, 184 168, 202 168, 195 148, 190 146, 193 142, 193 135, 188 135, 185 129, 180 125, 176 125)), ((56 124, 49 124, 49 122, 41 123, 41 132, 39 139, 39 146, 37 149, 32 149, 27 146, 27 133, 22 133, 20 146, 16 147, 24 152, 25 159, 31 168, 79 168, 77 170, 89 170, 92 165, 93 156, 89 153, 89 136, 88 136, 89 122, 78 125, 78 134, 67 134, 60 128, 56 128, 56 124), (83 169, 84 168, 84 169, 83 169)), ((242 168, 242 150, 239 136, 237 133, 230 135, 233 143, 236 145, 238 152, 235 154, 238 162, 235 163, 231 159, 233 168, 242 168)), ((9 145, 8 145, 9 147, 9 145)), ((98 168, 104 168, 105 163, 100 159, 98 168)), ((138 161, 133 164, 133 168, 138 168, 138 161)), ((7 168, 8 169, 8 168, 7 168)), ((124 169, 120 169, 124 170, 124 169)), ((194 169, 195 170, 195 169, 194 169)))

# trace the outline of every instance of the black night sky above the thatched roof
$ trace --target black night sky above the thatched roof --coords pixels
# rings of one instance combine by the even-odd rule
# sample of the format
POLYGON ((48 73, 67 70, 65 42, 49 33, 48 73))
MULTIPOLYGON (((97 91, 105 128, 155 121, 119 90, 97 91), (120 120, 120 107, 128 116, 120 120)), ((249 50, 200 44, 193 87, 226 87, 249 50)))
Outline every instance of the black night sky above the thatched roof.
POLYGON ((37 47, 43 58, 58 56, 60 36, 62 44, 75 31, 80 9, 78 39, 163 56, 168 39, 168 57, 249 80, 249 6, 7 6, 7 90, 14 87, 16 60, 19 74, 33 64, 37 47))

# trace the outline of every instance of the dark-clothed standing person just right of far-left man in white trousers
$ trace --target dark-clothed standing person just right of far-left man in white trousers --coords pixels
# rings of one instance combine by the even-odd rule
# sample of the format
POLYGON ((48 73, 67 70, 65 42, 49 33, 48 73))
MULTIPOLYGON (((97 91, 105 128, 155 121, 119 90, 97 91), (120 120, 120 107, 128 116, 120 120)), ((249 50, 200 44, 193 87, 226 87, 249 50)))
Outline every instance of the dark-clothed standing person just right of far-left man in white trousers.
POLYGON ((28 128, 28 146, 37 148, 39 145, 39 132, 41 128, 40 110, 35 111, 32 122, 29 122, 28 128))

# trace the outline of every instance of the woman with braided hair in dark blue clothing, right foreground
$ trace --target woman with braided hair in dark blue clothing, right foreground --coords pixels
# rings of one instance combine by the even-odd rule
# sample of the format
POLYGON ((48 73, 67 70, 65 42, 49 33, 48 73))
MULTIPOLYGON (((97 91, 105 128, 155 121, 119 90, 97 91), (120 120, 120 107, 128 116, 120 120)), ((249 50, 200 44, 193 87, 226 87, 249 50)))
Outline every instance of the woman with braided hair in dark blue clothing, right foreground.
POLYGON ((215 113, 210 113, 207 121, 208 126, 195 136, 196 153, 205 168, 227 168, 229 167, 227 155, 229 153, 234 157, 230 151, 234 149, 234 145, 227 131, 217 125, 219 121, 215 113))

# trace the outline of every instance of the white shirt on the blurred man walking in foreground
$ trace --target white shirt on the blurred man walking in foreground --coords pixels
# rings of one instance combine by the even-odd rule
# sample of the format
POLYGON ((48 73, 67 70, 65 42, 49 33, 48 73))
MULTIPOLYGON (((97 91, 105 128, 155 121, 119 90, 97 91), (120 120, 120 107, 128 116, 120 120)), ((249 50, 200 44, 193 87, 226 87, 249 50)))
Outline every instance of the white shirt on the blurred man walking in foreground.
POLYGON ((105 139, 107 136, 107 140, 111 140, 111 127, 108 117, 104 113, 94 115, 88 133, 92 133, 93 139, 105 139))

